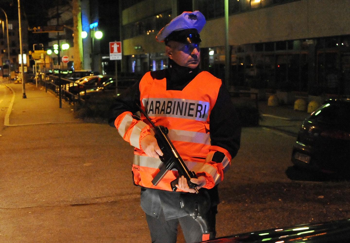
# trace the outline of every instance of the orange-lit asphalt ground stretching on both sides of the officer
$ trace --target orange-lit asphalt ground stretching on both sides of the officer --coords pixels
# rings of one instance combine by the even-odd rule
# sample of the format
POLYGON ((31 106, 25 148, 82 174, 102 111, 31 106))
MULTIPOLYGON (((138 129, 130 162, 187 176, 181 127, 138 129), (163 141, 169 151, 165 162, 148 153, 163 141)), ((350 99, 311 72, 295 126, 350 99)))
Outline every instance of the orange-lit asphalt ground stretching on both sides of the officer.
MULTIPOLYGON (((11 94, 0 84, 0 121, 11 94)), ((52 99, 30 84, 27 97, 27 105, 44 99, 47 106, 38 111, 41 123, 1 123, 0 243, 150 242, 132 183, 131 146, 107 124, 75 119, 70 107, 53 109, 69 119, 44 123, 49 115, 42 109, 51 109, 52 99), (30 101, 31 92, 37 96, 30 101)), ((17 104, 10 123, 35 116, 36 109, 17 104)), ((274 129, 243 129, 241 149, 219 185, 218 237, 350 218, 347 182, 293 179, 295 140, 274 129)))

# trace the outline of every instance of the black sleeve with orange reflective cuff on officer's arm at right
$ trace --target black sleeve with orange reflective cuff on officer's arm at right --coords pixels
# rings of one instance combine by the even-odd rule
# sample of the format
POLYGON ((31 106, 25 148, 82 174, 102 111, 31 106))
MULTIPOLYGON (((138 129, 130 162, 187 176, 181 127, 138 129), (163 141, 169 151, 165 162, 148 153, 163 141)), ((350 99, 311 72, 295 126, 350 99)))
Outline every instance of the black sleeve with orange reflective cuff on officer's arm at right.
POLYGON ((216 103, 210 113, 209 153, 197 176, 204 176, 207 180, 205 188, 212 188, 224 179, 233 157, 240 147, 241 126, 231 101, 229 92, 221 85, 216 103))

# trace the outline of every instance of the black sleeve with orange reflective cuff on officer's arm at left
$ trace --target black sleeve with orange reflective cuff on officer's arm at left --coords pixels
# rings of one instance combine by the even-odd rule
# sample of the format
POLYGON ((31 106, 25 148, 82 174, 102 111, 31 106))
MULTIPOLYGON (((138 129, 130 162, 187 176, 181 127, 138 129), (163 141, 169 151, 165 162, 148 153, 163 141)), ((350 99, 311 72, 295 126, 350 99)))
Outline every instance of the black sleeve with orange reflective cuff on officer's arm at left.
POLYGON ((121 137, 132 146, 141 149, 140 141, 150 134, 150 127, 139 117, 133 115, 139 111, 140 82, 137 82, 114 100, 109 110, 108 123, 116 127, 121 137))

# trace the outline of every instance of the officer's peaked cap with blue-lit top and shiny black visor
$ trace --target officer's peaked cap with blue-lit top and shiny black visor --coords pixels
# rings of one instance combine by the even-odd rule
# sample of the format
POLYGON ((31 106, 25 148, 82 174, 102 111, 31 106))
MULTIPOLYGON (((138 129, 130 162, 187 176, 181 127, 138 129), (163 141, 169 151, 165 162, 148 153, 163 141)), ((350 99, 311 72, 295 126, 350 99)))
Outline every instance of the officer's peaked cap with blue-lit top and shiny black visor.
POLYGON ((205 25, 205 17, 199 11, 183 12, 163 27, 155 37, 159 42, 170 40, 184 43, 199 43, 199 33, 205 25))

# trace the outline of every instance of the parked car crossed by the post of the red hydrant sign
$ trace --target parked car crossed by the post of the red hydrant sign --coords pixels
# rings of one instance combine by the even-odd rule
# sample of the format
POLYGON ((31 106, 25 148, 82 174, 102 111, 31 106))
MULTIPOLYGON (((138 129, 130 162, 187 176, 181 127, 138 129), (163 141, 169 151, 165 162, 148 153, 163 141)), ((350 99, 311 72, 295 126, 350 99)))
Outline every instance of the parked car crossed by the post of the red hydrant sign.
POLYGON ((90 98, 92 96, 99 96, 99 95, 114 95, 116 93, 116 84, 118 86, 118 92, 126 90, 128 87, 131 87, 133 84, 135 84, 138 80, 137 79, 118 79, 118 82, 116 82, 115 77, 112 79, 109 79, 108 81, 105 81, 102 83, 101 86, 94 87, 87 89, 86 92, 82 91, 80 92, 80 96, 83 98, 90 98))

